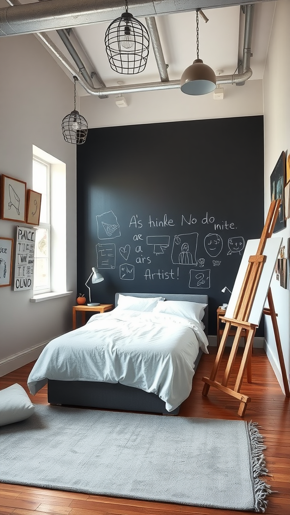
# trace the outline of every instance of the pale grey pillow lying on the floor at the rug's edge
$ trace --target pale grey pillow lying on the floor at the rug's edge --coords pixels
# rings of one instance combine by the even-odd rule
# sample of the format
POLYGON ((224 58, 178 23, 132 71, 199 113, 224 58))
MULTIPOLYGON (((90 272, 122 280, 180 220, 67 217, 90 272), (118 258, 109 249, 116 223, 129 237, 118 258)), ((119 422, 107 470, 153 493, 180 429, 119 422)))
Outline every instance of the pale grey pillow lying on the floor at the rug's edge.
POLYGON ((22 386, 15 383, 0 391, 0 426, 25 420, 34 413, 34 405, 22 386))

